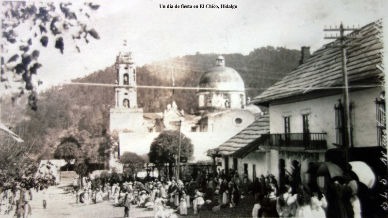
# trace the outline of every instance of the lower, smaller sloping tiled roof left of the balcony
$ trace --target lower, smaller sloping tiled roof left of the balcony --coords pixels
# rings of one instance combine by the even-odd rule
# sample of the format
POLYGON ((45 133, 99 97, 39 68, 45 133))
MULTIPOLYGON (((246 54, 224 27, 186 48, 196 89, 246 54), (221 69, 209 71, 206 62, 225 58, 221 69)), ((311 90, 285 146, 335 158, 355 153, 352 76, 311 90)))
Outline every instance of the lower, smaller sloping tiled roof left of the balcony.
POLYGON ((255 140, 260 139, 261 134, 268 134, 269 132, 270 116, 267 113, 216 149, 219 151, 219 155, 233 155, 255 140))

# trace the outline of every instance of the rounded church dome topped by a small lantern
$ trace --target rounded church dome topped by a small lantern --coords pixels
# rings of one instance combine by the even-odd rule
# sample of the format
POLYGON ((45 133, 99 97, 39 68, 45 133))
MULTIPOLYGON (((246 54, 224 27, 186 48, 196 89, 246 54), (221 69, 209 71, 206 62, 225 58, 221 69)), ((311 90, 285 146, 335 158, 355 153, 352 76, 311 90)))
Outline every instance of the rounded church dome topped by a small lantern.
MULTIPOLYGON (((240 74, 225 66, 222 56, 217 58, 217 66, 207 70, 199 80, 200 88, 215 88, 216 91, 245 92, 244 81, 240 74)), ((200 91, 201 92, 201 91, 200 91)))

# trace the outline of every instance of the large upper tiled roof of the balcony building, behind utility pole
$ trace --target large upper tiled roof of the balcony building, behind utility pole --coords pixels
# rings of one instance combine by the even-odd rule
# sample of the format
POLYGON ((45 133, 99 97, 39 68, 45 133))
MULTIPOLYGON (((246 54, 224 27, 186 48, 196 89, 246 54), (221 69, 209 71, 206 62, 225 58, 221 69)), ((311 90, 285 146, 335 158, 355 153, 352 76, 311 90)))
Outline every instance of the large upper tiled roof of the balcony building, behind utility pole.
MULTIPOLYGON (((383 72, 377 67, 378 64, 381 64, 381 49, 383 48, 383 44, 378 38, 381 29, 381 20, 379 20, 362 27, 359 31, 348 34, 360 33, 361 36, 358 39, 345 40, 345 44, 361 44, 359 47, 347 48, 347 74, 350 84, 357 82, 356 84, 360 85, 363 84, 361 81, 365 78, 383 75, 383 72)), ((336 40, 327 45, 339 43, 340 41, 336 40)), ((341 49, 326 48, 325 45, 315 51, 289 75, 255 97, 252 103, 268 106, 270 101, 335 86, 342 86, 341 49)))

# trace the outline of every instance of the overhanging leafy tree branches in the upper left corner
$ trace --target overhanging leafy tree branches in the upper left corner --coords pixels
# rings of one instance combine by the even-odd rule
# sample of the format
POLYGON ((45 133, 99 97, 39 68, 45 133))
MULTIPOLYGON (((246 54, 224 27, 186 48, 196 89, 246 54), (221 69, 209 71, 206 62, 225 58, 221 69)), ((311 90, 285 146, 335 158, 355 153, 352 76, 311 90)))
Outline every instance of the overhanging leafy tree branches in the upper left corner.
MULTIPOLYGON (((88 20, 99 5, 84 3, 74 6, 72 3, 6 1, 1 7, 1 83, 5 89, 17 87, 18 94, 28 91, 28 103, 36 110, 37 93, 32 75, 42 66, 38 62, 40 50, 55 40, 52 45, 63 54, 65 40, 71 38, 72 45, 80 51, 77 41, 86 43, 91 36, 99 39, 95 29, 90 28, 88 20)), ((37 85, 41 82, 38 81, 37 85)))

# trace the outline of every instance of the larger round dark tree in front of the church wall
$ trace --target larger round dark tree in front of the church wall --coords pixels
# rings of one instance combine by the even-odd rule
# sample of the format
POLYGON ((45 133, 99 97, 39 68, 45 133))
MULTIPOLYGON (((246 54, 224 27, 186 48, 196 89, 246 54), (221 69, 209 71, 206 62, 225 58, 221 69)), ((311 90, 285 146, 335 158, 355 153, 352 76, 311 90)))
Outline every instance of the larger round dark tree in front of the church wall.
MULTIPOLYGON (((179 131, 163 131, 155 138, 148 153, 149 161, 158 168, 168 163, 178 165, 179 131)), ((181 133, 180 162, 187 162, 193 157, 194 146, 191 139, 181 133)), ((171 171, 170 171, 171 172, 171 171)))

